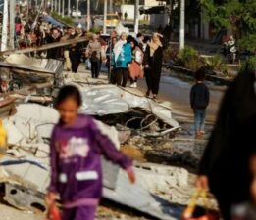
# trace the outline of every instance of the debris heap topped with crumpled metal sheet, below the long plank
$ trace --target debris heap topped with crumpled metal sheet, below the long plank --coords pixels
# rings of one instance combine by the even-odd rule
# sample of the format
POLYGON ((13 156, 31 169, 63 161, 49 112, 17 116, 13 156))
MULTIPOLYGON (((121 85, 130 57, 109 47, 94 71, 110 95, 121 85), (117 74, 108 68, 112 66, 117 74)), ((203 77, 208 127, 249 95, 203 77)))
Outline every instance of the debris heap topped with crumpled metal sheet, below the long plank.
POLYGON ((5 87, 2 92, 12 93, 15 97, 15 91, 20 99, 21 95, 30 95, 29 99, 35 102, 45 102, 32 95, 51 96, 54 87, 63 84, 63 63, 53 59, 35 59, 13 54, 5 62, 0 62, 0 69, 1 87, 5 87))

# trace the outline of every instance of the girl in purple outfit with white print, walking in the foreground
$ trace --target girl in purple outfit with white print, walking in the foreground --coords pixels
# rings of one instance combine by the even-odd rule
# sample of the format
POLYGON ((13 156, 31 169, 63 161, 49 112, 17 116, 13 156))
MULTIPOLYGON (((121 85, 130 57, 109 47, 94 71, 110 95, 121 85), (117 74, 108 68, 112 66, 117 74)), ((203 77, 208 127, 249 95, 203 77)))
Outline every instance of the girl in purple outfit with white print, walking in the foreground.
POLYGON ((92 117, 78 114, 81 103, 75 86, 63 87, 56 100, 60 121, 52 132, 46 202, 51 206, 59 195, 62 220, 94 219, 103 188, 101 154, 126 169, 131 183, 135 180, 131 160, 116 150, 92 117))

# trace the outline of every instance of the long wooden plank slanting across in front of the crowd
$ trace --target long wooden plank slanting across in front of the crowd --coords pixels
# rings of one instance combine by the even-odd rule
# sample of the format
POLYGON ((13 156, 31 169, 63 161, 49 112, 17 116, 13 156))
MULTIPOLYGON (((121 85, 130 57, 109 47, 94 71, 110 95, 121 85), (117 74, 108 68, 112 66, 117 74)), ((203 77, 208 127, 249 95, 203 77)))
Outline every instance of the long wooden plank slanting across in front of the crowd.
POLYGON ((25 54, 25 53, 35 52, 35 51, 45 51, 52 48, 64 47, 71 44, 86 42, 88 40, 89 40, 88 37, 80 37, 78 39, 71 39, 71 40, 61 41, 57 43, 45 44, 40 47, 29 47, 21 50, 2 51, 0 52, 0 56, 11 55, 11 54, 25 54))

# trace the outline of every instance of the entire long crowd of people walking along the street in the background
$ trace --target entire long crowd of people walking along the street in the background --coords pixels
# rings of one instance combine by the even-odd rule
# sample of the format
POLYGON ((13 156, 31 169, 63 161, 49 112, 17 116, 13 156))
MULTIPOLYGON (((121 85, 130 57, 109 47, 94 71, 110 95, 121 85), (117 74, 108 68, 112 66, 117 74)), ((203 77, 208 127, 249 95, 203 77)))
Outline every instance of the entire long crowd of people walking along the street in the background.
POLYGON ((120 36, 113 31, 109 39, 104 39, 101 32, 91 35, 79 27, 55 26, 44 21, 43 16, 27 22, 17 14, 16 42, 19 48, 42 46, 50 43, 87 37, 84 43, 56 47, 47 51, 30 53, 29 56, 55 59, 64 62, 67 71, 77 73, 80 63, 86 63, 91 70, 91 77, 98 78, 101 66, 108 68, 110 83, 126 87, 137 87, 138 78, 145 77, 148 90, 157 98, 161 76, 163 45, 162 35, 154 33, 152 38, 138 33, 132 37, 127 33, 120 36))

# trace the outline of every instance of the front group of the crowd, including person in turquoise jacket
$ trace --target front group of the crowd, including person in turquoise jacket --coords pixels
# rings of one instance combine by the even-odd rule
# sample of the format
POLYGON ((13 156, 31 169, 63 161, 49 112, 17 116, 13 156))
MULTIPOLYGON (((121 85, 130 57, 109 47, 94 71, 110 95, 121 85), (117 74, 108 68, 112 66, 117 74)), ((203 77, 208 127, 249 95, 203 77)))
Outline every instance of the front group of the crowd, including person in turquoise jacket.
POLYGON ((154 33, 152 39, 138 33, 132 37, 127 33, 118 36, 116 31, 111 33, 110 43, 102 46, 100 37, 96 34, 86 47, 86 57, 91 63, 92 78, 98 77, 102 62, 109 69, 110 82, 126 87, 128 82, 132 88, 137 87, 138 78, 145 76, 148 90, 146 96, 152 93, 157 98, 163 46, 161 35, 154 33))

